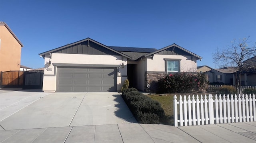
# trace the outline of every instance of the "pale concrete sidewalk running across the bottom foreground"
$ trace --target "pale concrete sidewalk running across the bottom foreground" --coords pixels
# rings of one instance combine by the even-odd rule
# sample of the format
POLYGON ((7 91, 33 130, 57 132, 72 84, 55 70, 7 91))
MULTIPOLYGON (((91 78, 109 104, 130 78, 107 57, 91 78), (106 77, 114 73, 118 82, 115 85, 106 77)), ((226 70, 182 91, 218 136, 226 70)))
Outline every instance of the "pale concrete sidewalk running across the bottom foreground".
POLYGON ((256 143, 256 122, 174 127, 124 123, 40 129, 0 127, 0 143, 256 143))

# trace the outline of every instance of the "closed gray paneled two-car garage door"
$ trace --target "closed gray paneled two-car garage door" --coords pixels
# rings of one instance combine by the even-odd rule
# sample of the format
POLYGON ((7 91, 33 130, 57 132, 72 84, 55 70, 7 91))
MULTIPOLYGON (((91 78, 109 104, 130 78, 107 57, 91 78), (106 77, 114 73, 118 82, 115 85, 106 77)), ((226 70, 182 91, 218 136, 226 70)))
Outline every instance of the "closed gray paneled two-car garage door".
POLYGON ((57 92, 116 92, 116 68, 57 67, 57 92))

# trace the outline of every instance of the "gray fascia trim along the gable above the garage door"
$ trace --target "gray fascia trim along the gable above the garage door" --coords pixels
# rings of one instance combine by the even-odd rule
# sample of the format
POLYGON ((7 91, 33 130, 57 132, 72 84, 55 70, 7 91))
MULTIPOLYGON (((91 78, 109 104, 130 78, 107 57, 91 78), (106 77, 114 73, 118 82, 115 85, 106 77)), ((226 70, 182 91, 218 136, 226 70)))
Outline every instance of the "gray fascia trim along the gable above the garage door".
POLYGON ((71 43, 71 44, 67 44, 67 45, 58 47, 58 48, 56 48, 56 49, 52 49, 52 50, 49 50, 49 51, 40 53, 40 54, 38 54, 38 55, 44 57, 44 55, 47 54, 47 53, 52 53, 52 52, 55 52, 55 51, 64 49, 64 48, 66 48, 66 47, 70 47, 70 46, 72 46, 72 45, 76 45, 76 44, 78 44, 78 43, 82 43, 82 42, 84 42, 84 41, 88 41, 88 40, 89 40, 89 41, 92 41, 92 42, 94 42, 94 43, 96 43, 96 44, 98 44, 98 45, 100 45, 100 46, 102 46, 102 47, 104 47, 104 48, 106 48, 106 49, 109 49, 110 51, 113 51, 113 52, 115 52, 115 53, 118 53, 119 55, 122 55, 122 56, 124 56, 124 57, 127 57, 128 59, 131 59, 131 57, 125 55, 124 53, 121 53, 121 52, 119 52, 119 51, 116 51, 116 50, 114 50, 114 49, 112 49, 112 48, 110 48, 110 47, 108 47, 108 46, 106 46, 106 45, 103 45, 102 43, 99 43, 99 42, 97 42, 97 41, 95 41, 95 40, 93 40, 93 39, 90 39, 89 37, 86 38, 86 39, 80 40, 80 41, 76 41, 76 42, 71 43))

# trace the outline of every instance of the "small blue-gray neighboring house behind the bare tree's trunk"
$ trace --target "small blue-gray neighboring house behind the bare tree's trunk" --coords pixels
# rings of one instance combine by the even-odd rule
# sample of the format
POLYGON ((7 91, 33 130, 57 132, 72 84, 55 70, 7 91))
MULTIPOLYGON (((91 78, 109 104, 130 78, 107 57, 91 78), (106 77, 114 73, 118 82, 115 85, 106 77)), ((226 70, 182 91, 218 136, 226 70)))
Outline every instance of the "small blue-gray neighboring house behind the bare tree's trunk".
POLYGON ((221 69, 211 69, 210 71, 204 72, 210 83, 220 82, 227 85, 233 85, 234 76, 233 72, 237 71, 235 68, 224 67, 221 69))

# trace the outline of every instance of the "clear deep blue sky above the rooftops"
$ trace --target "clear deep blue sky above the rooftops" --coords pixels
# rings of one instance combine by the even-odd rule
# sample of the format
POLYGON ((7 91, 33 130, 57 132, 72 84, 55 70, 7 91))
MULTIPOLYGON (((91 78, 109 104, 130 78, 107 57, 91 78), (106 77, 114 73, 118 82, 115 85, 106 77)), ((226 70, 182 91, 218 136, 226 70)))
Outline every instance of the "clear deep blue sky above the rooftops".
POLYGON ((0 0, 0 11, 24 45, 21 65, 34 69, 44 67, 38 53, 87 37, 109 46, 176 43, 212 68, 217 47, 256 42, 256 0, 0 0))

